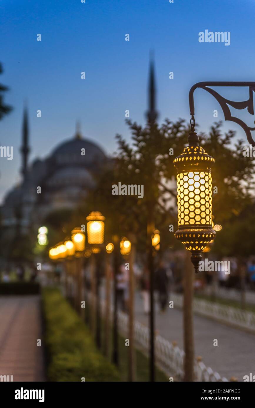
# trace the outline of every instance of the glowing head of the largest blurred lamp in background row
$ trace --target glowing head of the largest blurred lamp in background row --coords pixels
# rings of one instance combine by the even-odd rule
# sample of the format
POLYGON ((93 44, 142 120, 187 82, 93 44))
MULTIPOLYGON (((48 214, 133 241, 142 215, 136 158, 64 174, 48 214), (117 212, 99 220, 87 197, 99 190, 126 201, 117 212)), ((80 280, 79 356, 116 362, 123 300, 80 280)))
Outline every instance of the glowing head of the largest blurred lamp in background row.
POLYGON ((92 211, 87 217, 87 239, 89 244, 103 244, 105 217, 99 211, 92 211))

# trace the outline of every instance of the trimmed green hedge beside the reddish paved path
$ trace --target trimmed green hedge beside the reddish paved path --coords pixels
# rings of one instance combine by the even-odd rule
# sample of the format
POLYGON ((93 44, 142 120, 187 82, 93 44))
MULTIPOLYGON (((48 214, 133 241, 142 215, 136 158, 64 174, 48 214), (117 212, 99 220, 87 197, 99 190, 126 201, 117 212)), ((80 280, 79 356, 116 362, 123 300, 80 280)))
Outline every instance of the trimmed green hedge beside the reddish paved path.
POLYGON ((89 330, 54 288, 43 289, 49 381, 119 381, 116 368, 96 348, 89 330))

